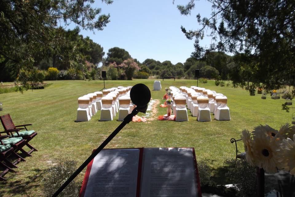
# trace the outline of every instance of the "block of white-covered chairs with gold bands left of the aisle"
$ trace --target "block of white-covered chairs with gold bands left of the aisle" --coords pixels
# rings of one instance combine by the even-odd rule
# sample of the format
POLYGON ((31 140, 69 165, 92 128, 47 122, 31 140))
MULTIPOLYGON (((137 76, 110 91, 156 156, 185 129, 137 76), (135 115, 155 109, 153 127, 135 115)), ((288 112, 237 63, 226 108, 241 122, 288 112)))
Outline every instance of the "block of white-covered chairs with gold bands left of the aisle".
POLYGON ((77 121, 89 121, 98 110, 101 121, 113 120, 117 113, 118 120, 123 121, 135 107, 129 96, 131 88, 118 86, 79 97, 77 121))

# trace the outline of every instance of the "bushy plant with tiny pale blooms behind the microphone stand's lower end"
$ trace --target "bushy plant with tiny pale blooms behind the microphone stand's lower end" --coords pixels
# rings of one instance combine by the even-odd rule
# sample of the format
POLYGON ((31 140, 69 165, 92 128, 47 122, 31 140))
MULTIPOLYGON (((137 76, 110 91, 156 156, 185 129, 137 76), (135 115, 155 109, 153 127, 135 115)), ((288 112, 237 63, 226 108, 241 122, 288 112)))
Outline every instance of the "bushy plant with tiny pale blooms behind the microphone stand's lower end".
MULTIPOLYGON (((75 171, 77 162, 69 158, 59 159, 57 165, 49 168, 42 179, 43 191, 46 196, 52 196, 55 191, 68 179, 75 171)), ((59 196, 78 196, 79 182, 74 179, 61 192, 59 196)))

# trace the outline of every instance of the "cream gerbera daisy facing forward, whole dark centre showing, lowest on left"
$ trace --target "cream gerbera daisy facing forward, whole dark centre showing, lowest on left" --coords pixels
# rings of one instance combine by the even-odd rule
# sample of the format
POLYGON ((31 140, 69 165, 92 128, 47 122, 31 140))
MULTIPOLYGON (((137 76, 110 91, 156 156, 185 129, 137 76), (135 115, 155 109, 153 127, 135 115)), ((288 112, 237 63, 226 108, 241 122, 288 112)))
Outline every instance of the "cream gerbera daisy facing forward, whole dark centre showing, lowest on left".
POLYGON ((252 142, 252 153, 254 163, 264 168, 265 171, 270 173, 277 172, 279 164, 279 143, 276 140, 271 140, 270 136, 256 135, 252 142))

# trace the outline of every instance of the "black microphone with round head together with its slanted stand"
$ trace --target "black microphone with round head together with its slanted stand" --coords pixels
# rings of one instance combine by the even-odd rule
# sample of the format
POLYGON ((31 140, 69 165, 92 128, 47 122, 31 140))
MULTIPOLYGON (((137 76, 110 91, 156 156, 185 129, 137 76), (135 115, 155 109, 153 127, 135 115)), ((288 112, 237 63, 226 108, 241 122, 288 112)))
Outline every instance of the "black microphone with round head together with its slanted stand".
POLYGON ((64 189, 71 183, 73 179, 94 159, 94 157, 121 131, 121 129, 130 121, 132 117, 138 114, 138 112, 146 113, 148 108, 148 103, 151 100, 151 91, 148 86, 138 83, 134 85, 130 90, 130 99, 137 107, 135 107, 130 114, 128 114, 124 121, 104 140, 102 144, 85 160, 84 163, 69 177, 68 180, 52 195, 52 197, 57 197, 64 189))

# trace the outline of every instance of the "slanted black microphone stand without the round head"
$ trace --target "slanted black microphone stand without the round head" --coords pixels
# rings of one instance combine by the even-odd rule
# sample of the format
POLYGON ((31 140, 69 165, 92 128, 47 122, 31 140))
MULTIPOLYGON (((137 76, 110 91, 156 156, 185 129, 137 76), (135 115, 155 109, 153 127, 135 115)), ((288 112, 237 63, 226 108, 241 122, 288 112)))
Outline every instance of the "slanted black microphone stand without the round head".
POLYGON ((69 177, 68 180, 65 181, 65 183, 52 195, 52 197, 57 197, 64 189, 71 183, 73 179, 76 178, 76 176, 91 162, 92 159, 121 131, 121 129, 130 121, 132 120, 132 117, 138 114, 138 112, 145 113, 147 111, 148 105, 144 107, 136 107, 134 110, 132 110, 131 114, 128 114, 124 121, 111 133, 111 135, 108 136, 107 139, 104 140, 102 144, 88 157, 88 159, 85 160, 84 163, 69 177))

